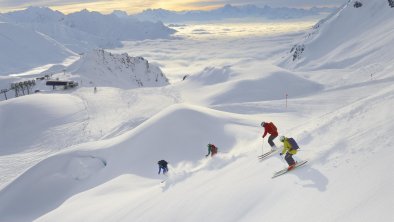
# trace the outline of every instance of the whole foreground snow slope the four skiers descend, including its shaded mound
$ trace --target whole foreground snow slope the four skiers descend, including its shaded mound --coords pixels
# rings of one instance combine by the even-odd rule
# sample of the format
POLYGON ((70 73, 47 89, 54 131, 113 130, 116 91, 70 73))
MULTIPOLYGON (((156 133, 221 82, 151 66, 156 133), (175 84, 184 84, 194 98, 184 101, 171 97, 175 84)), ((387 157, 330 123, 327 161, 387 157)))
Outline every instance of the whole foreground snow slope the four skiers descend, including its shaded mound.
MULTIPOLYGON (((1 215, 7 221, 26 221, 62 204, 40 220, 157 221, 157 214, 163 221, 258 221, 262 216, 271 221, 390 219, 384 212, 389 212, 392 198, 382 190, 393 181, 377 172, 387 169, 393 158, 385 150, 392 143, 387 132, 394 127, 387 106, 394 99, 392 84, 369 84, 334 95, 351 96, 377 87, 383 89, 350 104, 333 99, 336 109, 316 116, 318 121, 305 118, 302 127, 294 120, 282 123, 281 129, 303 147, 299 158, 310 163, 276 180, 270 179, 282 166, 276 157, 263 163, 255 160, 258 119, 178 105, 120 137, 84 144, 41 162, 1 192, 2 203, 7 203, 1 215), (366 136, 370 130, 376 139, 366 136), (230 153, 200 160, 205 141, 211 140, 230 153), (161 158, 171 163, 173 173, 164 187, 154 174, 161 158), (32 202, 36 204, 23 205, 24 213, 18 215, 21 203, 32 202), (278 214, 283 207, 293 210, 278 214), (92 213, 94 209, 105 210, 92 213)), ((314 96, 309 100, 318 106, 314 96)), ((297 114, 287 115, 291 119, 297 114)))

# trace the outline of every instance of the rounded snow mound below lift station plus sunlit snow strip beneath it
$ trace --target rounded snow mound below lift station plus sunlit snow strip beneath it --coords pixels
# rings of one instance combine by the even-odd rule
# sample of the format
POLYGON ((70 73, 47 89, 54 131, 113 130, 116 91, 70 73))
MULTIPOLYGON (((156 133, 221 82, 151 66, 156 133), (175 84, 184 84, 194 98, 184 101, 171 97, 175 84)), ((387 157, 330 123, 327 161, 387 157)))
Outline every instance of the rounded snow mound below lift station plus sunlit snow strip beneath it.
POLYGON ((1 187, 52 153, 88 141, 87 120, 83 101, 72 95, 36 94, 1 102, 1 187))

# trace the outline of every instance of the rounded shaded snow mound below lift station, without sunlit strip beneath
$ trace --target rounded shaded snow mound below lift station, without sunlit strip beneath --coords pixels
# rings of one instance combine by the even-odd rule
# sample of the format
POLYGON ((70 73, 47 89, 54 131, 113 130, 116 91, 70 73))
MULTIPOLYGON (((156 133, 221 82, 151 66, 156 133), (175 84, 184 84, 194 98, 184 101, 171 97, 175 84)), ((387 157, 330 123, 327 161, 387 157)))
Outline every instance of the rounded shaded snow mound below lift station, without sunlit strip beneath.
POLYGON ((87 118, 83 101, 71 95, 24 96, 4 101, 0 106, 1 125, 13 126, 0 135, 0 146, 6 148, 0 151, 2 155, 18 153, 31 147, 43 146, 49 149, 55 143, 70 146, 70 142, 75 139, 71 136, 72 131, 80 131, 87 118), (57 108, 59 105, 61 109, 57 108), (67 128, 70 137, 60 141, 56 131, 62 132, 64 128, 67 128), (14 138, 16 134, 25 135, 24 140, 14 138), (43 138, 46 138, 45 141, 43 138))

